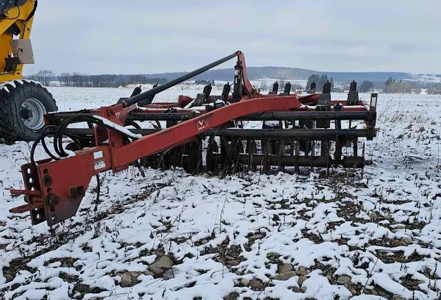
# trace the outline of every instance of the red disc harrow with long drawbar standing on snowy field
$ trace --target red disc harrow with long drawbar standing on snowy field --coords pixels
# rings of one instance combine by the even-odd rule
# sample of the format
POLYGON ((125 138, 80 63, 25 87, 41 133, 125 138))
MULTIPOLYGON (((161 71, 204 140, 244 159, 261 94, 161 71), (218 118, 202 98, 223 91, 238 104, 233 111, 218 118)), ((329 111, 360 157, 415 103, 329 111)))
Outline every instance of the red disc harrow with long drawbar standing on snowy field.
POLYGON ((315 84, 305 96, 290 92, 287 83, 278 93, 276 83, 272 92, 261 94, 249 82, 244 55, 238 51, 146 92, 136 88, 116 105, 47 114, 46 131, 34 142, 31 162, 21 167, 25 189, 11 191, 24 195, 26 204, 10 212, 30 212, 32 224, 47 221, 52 226, 76 214, 92 176, 131 165, 141 173, 143 167, 183 167, 189 173, 363 168, 358 139, 376 135, 377 94, 371 94, 370 103, 360 101, 356 83, 347 100, 331 100, 330 83, 320 94, 315 84), (212 96, 208 85, 195 98, 152 103, 155 94, 232 58, 237 58, 234 79, 221 95, 212 96), (154 122, 154 128, 141 128, 139 122, 145 121, 154 122), (342 121, 348 128, 342 128, 342 121), (362 127, 351 127, 358 121, 362 127), (69 127, 79 122, 88 128, 69 127), (65 137, 72 140, 66 149, 65 137), (45 138, 53 138, 52 151, 45 138), (50 158, 35 162, 39 143, 50 158), (348 146, 351 155, 343 156, 348 146))

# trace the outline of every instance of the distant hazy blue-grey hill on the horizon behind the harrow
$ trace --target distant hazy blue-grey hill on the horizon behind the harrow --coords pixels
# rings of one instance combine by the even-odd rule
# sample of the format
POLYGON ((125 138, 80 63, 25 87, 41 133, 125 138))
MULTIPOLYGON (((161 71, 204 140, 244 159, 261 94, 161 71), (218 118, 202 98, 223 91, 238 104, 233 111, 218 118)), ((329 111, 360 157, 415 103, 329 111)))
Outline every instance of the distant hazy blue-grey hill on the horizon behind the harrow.
MULTIPOLYGON (((404 72, 318 72, 311 69, 298 69, 293 67, 247 67, 248 77, 252 80, 261 78, 276 79, 307 79, 311 74, 327 74, 328 78, 334 78, 334 81, 350 82, 354 79, 362 81, 386 81, 390 76, 396 80, 409 79, 411 74, 404 72)), ((149 78, 167 78, 167 80, 177 78, 187 74, 187 72, 146 74, 149 78)), ((212 69, 196 79, 205 79, 215 81, 232 81, 234 69, 212 69)))

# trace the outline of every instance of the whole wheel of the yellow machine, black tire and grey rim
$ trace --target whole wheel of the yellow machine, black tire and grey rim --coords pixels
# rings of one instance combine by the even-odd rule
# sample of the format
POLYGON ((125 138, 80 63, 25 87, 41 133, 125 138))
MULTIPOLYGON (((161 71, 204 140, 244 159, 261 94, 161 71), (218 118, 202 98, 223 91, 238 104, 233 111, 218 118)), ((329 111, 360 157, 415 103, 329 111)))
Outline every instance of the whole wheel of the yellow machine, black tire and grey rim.
POLYGON ((34 81, 0 85, 0 138, 7 144, 36 140, 45 127, 43 116, 58 107, 52 94, 34 81))

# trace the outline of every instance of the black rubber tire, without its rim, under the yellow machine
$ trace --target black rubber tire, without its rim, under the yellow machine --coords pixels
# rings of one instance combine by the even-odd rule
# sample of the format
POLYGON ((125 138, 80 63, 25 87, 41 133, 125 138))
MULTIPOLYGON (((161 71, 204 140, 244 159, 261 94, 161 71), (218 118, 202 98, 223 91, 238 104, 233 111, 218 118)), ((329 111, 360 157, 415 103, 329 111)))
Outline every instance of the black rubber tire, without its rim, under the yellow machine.
POLYGON ((52 94, 43 85, 33 81, 14 81, 14 85, 6 83, 0 87, 0 138, 8 144, 36 140, 44 128, 32 130, 24 125, 19 111, 26 99, 39 100, 48 113, 58 110, 52 94))

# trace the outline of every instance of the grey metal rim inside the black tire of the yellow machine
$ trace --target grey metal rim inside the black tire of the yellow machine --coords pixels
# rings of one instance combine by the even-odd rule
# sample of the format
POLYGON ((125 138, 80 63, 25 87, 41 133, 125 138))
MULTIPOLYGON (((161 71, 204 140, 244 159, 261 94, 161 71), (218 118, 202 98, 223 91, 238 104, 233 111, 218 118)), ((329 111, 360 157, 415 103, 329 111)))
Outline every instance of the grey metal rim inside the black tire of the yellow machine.
POLYGON ((44 127, 43 116, 47 113, 40 100, 28 98, 21 103, 20 118, 25 127, 38 130, 44 127))

